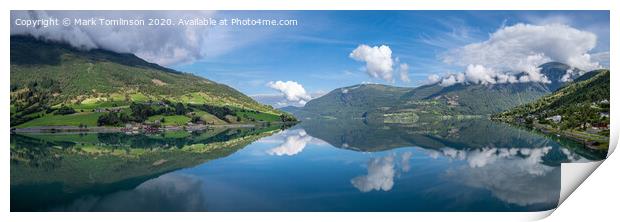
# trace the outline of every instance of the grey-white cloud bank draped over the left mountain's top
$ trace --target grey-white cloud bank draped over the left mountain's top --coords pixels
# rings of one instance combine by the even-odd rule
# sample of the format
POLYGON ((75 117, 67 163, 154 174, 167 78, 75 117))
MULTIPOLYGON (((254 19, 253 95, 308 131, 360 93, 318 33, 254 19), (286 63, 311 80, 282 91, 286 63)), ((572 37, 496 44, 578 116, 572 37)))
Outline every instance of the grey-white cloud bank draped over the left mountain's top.
MULTIPOLYGON (((172 19, 210 17, 212 11, 12 11, 11 20, 46 18, 172 19)), ((62 41, 81 49, 107 49, 133 53, 150 62, 172 65, 205 56, 209 48, 205 26, 49 26, 25 27, 11 23, 11 35, 29 34, 46 40, 62 41)))

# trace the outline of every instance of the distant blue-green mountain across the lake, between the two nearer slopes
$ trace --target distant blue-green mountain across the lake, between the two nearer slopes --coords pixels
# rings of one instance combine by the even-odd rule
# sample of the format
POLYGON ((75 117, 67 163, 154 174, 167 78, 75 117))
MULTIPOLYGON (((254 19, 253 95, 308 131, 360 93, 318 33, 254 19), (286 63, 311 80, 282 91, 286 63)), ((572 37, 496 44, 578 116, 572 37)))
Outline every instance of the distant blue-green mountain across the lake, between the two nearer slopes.
POLYGON ((550 84, 455 84, 443 87, 437 83, 417 88, 363 84, 336 89, 309 101, 303 108, 285 110, 302 119, 344 117, 384 122, 489 115, 532 102, 564 85, 561 80, 567 71, 580 72, 557 62, 543 64, 540 69, 552 81, 550 84))

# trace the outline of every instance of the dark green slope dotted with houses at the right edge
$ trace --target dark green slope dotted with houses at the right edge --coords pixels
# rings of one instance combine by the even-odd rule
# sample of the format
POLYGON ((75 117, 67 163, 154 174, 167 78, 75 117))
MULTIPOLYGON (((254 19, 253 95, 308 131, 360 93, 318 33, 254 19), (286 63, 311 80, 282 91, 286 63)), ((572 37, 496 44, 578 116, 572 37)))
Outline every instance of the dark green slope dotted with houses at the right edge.
POLYGON ((595 70, 534 102, 493 117, 561 131, 609 135, 609 70, 595 70))

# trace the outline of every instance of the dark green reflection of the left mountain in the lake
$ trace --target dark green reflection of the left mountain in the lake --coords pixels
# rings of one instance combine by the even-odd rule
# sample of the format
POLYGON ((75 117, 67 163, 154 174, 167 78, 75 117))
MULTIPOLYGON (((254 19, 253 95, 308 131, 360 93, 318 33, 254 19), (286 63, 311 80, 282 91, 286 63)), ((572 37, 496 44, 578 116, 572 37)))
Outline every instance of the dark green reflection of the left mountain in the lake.
POLYGON ((160 135, 11 135, 11 210, 47 211, 82 197, 96 202, 93 196, 147 189, 152 185, 145 181, 226 157, 278 131, 279 126, 160 135))

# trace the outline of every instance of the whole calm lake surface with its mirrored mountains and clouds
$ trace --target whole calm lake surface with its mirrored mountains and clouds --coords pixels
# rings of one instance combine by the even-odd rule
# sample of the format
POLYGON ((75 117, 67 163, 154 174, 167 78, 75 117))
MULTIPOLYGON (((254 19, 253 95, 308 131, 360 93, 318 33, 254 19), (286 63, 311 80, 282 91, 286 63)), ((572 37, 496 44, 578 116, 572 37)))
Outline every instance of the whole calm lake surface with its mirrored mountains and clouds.
POLYGON ((11 135, 11 210, 540 211, 604 156, 486 120, 11 135))

